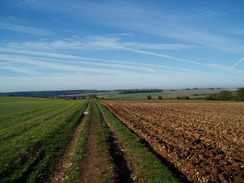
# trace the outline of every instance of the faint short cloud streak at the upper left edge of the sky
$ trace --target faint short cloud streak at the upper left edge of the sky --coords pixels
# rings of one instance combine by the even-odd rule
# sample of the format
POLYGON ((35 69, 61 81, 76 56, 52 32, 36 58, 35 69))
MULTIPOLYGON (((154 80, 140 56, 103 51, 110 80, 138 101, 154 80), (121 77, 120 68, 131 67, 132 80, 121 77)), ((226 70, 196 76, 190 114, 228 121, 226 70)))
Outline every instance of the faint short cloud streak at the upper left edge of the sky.
POLYGON ((27 33, 27 34, 35 34, 35 35, 40 35, 40 36, 47 36, 47 35, 53 34, 53 32, 43 30, 43 29, 38 29, 38 28, 18 25, 18 24, 4 23, 4 22, 0 22, 0 28, 12 30, 12 31, 23 32, 23 33, 27 33))

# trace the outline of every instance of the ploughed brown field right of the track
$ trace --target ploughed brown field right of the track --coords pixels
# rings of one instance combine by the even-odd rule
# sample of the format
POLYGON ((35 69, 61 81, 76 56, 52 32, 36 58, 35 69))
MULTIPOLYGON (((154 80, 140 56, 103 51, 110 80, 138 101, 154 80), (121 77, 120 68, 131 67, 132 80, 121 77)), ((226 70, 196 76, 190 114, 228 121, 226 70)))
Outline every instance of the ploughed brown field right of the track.
POLYGON ((244 182, 244 103, 104 100, 192 182, 244 182))

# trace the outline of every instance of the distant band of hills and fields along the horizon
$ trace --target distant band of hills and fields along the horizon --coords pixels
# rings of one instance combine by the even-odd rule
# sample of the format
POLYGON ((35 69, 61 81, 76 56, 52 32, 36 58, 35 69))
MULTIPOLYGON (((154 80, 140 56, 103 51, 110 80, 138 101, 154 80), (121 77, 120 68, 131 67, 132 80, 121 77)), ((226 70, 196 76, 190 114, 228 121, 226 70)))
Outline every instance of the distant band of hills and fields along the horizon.
POLYGON ((181 90, 160 90, 160 89, 129 89, 129 90, 58 90, 58 91, 28 91, 28 92, 6 92, 0 96, 18 97, 42 97, 42 98, 83 98, 96 94, 99 98, 105 99, 146 99, 150 94, 154 99, 158 96, 163 98, 176 98, 189 96, 190 98, 205 97, 219 93, 222 90, 235 92, 237 89, 181 89, 181 90))

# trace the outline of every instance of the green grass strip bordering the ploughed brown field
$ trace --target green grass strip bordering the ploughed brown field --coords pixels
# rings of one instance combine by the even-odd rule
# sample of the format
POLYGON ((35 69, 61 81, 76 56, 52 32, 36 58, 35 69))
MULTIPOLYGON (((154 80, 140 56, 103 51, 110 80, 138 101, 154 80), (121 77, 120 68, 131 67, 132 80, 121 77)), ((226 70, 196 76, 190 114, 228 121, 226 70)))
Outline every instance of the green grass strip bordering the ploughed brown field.
POLYGON ((129 161, 138 168, 139 179, 142 182, 179 182, 174 178, 172 172, 162 164, 159 158, 150 151, 147 145, 142 143, 136 134, 131 132, 104 105, 98 103, 98 106, 102 110, 104 118, 116 130, 118 137, 126 148, 129 161))

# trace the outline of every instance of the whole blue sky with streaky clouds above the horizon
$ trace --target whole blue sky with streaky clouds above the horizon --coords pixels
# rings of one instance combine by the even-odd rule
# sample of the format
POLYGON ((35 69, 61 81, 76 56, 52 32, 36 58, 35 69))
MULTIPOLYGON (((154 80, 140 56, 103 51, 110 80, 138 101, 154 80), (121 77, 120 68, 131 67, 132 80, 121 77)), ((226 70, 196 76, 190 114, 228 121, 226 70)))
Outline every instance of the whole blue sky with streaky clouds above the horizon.
POLYGON ((243 0, 0 0, 0 92, 243 86, 243 0))

